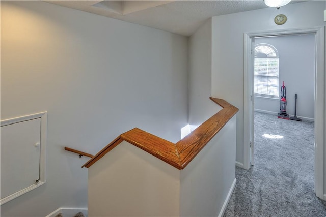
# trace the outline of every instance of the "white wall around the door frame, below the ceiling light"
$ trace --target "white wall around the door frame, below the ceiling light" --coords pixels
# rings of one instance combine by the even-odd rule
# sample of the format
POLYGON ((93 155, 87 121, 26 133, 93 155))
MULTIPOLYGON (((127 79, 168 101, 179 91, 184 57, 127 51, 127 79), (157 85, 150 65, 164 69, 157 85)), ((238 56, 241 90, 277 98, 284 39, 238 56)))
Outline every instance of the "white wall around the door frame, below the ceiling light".
POLYGON ((224 98, 239 108, 236 161, 243 163, 243 34, 324 26, 325 7, 324 1, 309 1, 289 4, 279 10, 265 8, 212 17, 212 97, 224 98), (278 14, 288 17, 284 25, 274 23, 278 14))

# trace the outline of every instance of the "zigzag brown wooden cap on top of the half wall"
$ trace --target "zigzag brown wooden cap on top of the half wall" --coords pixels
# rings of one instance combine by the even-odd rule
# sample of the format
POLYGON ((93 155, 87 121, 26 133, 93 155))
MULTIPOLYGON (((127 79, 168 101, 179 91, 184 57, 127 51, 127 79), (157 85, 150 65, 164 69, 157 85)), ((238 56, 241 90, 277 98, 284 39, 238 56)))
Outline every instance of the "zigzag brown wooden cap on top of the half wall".
POLYGON ((118 136, 82 167, 89 168, 125 140, 179 170, 184 169, 239 110, 225 100, 212 97, 210 99, 219 104, 222 109, 177 143, 174 144, 141 129, 134 128, 118 136))

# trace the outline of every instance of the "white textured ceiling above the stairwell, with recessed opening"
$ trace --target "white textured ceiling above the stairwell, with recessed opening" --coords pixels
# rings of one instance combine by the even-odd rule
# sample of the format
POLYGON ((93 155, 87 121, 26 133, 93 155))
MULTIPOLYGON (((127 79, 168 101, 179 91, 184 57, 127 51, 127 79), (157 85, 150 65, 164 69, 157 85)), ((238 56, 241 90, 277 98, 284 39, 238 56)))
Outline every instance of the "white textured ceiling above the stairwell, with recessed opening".
MULTIPOLYGON (((183 36, 192 35, 205 20, 212 16, 267 7, 262 0, 45 2, 158 28, 183 36), (95 4, 101 7, 96 7, 95 4)), ((300 1, 291 3, 295 2, 300 1)))

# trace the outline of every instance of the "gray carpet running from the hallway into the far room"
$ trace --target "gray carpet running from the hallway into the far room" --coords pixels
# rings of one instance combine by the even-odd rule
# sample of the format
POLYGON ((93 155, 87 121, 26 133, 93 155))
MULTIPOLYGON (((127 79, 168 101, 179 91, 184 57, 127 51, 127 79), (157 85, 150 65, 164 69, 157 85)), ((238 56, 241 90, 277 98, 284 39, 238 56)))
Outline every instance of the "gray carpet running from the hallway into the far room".
POLYGON ((326 216, 314 193, 313 122, 255 112, 254 156, 250 170, 236 167, 224 216, 326 216))

